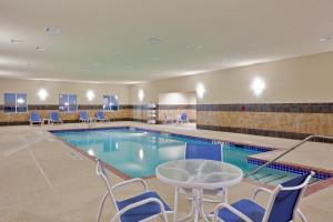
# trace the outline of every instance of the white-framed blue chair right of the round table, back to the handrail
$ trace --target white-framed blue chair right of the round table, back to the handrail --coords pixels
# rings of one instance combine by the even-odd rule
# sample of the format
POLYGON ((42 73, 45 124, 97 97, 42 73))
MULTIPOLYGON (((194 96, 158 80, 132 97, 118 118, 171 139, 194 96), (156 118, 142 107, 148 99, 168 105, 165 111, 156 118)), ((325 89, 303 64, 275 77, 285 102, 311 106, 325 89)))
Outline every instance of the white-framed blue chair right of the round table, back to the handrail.
POLYGON ((273 191, 259 188, 254 191, 253 199, 242 199, 231 205, 221 203, 215 208, 214 221, 245 221, 245 222, 290 222, 299 214, 303 222, 306 222, 299 205, 314 172, 301 175, 282 184, 273 191), (260 192, 271 195, 268 206, 264 209, 254 202, 260 192))

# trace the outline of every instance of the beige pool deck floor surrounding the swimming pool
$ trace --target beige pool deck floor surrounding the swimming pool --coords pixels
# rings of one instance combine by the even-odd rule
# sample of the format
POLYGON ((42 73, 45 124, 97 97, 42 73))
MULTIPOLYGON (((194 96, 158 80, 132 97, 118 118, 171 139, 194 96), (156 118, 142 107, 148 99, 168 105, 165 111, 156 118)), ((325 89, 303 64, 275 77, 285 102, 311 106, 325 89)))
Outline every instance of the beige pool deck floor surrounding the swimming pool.
MULTIPOLYGON (((294 140, 264 138, 236 133, 223 133, 174 125, 147 125, 137 122, 98 123, 98 127, 137 127, 170 133, 209 138, 236 142, 253 147, 278 149, 254 158, 269 160, 281 150, 294 144, 294 140), (271 155, 270 155, 271 154, 271 155)), ((97 208, 104 192, 102 181, 94 174, 94 162, 85 155, 57 140, 48 130, 81 129, 88 124, 63 124, 43 127, 3 127, 0 128, 0 222, 7 221, 94 221, 97 208)), ((333 170, 333 144, 306 143, 296 152, 290 153, 282 161, 300 165, 333 170)), ((114 182, 121 176, 110 173, 114 182)), ((173 205, 173 190, 158 179, 147 180, 151 190, 157 190, 173 205)), ((302 201, 301 209, 309 221, 331 221, 333 216, 333 183, 326 180, 325 189, 312 191, 302 201)), ((230 201, 250 198, 255 185, 242 182, 230 189, 230 201)), ((123 190, 125 196, 137 189, 123 190)), ((265 196, 260 198, 265 203, 265 196)), ((183 203, 180 205, 189 205, 183 203)), ((113 209, 108 202, 103 221, 109 221, 113 209)), ((214 205, 208 205, 212 209, 214 205)), ((185 208, 181 209, 185 213, 185 208)))

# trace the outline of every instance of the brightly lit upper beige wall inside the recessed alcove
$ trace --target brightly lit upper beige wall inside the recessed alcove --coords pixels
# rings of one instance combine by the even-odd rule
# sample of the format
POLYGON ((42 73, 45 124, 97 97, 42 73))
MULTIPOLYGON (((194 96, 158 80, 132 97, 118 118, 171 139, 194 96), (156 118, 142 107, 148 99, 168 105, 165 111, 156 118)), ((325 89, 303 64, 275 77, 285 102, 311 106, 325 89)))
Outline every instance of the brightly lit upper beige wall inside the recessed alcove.
POLYGON ((159 104, 196 104, 196 94, 195 92, 160 93, 159 104))

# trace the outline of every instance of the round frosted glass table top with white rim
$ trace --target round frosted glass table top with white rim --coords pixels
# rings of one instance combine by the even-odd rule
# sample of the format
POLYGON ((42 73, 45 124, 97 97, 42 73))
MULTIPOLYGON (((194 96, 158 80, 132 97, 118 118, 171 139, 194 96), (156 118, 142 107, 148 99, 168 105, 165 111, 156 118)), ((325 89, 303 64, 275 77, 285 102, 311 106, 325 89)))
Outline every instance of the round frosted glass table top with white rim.
POLYGON ((157 178, 164 183, 189 189, 219 189, 240 183, 240 168, 213 160, 174 160, 157 168, 157 178))

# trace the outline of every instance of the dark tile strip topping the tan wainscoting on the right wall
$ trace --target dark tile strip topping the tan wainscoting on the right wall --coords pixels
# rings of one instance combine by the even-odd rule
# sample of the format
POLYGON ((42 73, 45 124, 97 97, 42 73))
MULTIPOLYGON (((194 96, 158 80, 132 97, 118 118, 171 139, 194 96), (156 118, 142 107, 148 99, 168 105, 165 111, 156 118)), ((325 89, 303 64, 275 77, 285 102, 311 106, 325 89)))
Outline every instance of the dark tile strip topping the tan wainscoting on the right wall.
POLYGON ((333 113, 333 103, 198 104, 196 111, 333 113))

